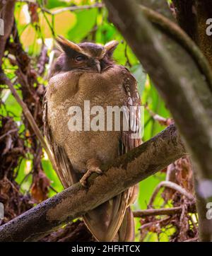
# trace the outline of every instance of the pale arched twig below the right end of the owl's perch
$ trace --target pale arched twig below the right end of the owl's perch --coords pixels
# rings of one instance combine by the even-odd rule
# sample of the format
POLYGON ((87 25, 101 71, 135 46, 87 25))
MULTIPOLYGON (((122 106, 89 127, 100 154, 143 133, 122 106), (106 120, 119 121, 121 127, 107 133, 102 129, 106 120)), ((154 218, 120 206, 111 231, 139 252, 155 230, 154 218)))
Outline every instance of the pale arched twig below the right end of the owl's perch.
POLYGON ((158 184, 158 186, 155 188, 151 199, 149 201, 149 206, 153 205, 154 199, 156 197, 156 195, 158 194, 159 190, 161 187, 169 187, 172 190, 176 190, 177 192, 183 194, 185 197, 187 197, 189 200, 194 201, 194 196, 187 192, 187 190, 185 190, 183 187, 180 187, 179 185, 177 185, 175 182, 170 182, 170 181, 162 181, 158 184))

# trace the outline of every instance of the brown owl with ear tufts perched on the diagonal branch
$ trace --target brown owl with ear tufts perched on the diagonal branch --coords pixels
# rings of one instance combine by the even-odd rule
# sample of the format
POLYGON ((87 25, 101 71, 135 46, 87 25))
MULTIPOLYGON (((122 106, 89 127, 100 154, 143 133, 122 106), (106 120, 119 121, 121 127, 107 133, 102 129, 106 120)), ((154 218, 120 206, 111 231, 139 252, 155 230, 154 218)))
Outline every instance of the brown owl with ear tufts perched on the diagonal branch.
MULTIPOLYGON (((102 164, 112 163, 118 156, 141 144, 139 137, 132 136, 140 129, 141 100, 134 76, 114 62, 112 55, 117 41, 106 45, 91 42, 75 44, 64 37, 57 37, 57 44, 61 54, 50 71, 44 97, 45 137, 64 187, 78 181, 86 186, 91 173, 102 173, 102 164), (120 120, 124 122, 125 119, 134 129, 123 129, 121 125, 120 129, 108 130, 107 124, 102 125, 103 129, 88 129, 88 121, 95 122, 96 115, 88 112, 85 102, 89 103, 90 109, 99 106, 104 110, 103 120, 106 120, 109 106, 124 106, 120 120), (129 115, 131 106, 136 107, 134 115, 129 115), (84 113, 79 115, 83 123, 79 124, 81 129, 69 129, 70 118, 76 115, 70 107, 84 113)), ((99 122, 96 121, 97 127, 99 122)), ((83 221, 98 241, 134 240, 134 217, 130 204, 136 199, 137 192, 137 186, 131 187, 83 216, 83 221)))

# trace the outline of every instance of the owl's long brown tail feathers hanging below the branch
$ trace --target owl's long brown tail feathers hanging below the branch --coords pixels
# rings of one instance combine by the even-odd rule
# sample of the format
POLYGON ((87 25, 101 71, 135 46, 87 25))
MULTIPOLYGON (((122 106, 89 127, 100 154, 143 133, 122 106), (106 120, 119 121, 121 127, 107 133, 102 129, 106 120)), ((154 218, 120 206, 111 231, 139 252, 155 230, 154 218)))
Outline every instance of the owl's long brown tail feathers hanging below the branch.
POLYGON ((88 229, 100 242, 134 240, 134 216, 129 207, 134 187, 89 211, 83 217, 88 229))

